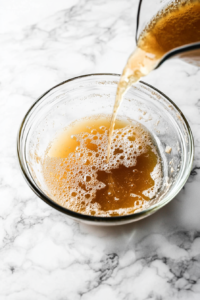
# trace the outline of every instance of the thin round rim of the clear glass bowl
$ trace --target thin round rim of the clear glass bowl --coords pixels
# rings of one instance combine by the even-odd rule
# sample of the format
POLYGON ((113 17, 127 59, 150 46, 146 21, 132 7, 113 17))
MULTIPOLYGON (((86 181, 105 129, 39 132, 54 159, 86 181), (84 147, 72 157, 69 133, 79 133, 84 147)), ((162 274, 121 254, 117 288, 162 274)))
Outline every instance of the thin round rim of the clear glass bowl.
MULTIPOLYGON (((31 107, 28 109, 27 113, 25 114, 24 118, 22 119, 21 125, 19 127, 18 130, 18 134, 17 134, 17 157, 18 157, 18 162, 20 165, 20 169, 22 171, 22 174, 26 180, 26 182, 28 183, 29 187, 33 190, 33 192, 40 198, 42 199, 44 202, 46 202, 48 205, 50 205, 51 207, 53 207, 54 209, 64 213, 65 215, 68 215, 74 219, 78 219, 78 220, 83 220, 83 221, 90 221, 91 223, 93 222, 99 222, 99 223, 115 223, 115 222, 124 222, 124 221, 129 221, 129 220, 133 220, 134 219, 141 219, 144 218, 145 216, 148 216, 154 212, 156 212, 158 209, 162 208, 163 206, 165 206, 167 203, 169 203, 172 199, 174 199, 174 197, 180 192, 180 190, 182 189, 182 187, 185 185, 188 177, 190 176, 190 172, 192 170, 192 164, 193 164, 193 159, 194 159, 194 138, 193 138, 193 134, 190 128, 190 125, 186 119, 186 117, 184 116, 184 114, 182 113, 182 111, 178 108, 178 106, 168 97, 166 96, 163 92, 161 92, 160 90, 158 90, 157 88, 155 88, 154 86, 144 82, 144 81, 139 81, 140 84, 149 87, 150 89, 156 91, 158 94, 162 95, 170 104, 172 104, 175 109, 179 112, 179 114, 181 115, 187 131, 188 131, 188 136, 189 136, 189 145, 190 145, 190 158, 189 158, 189 164, 188 164, 188 172, 185 172, 185 176, 183 177, 181 184, 178 186, 178 188, 176 189, 176 191, 174 192, 173 195, 171 195, 171 197, 169 197, 166 201, 165 198, 163 198, 161 200, 161 202, 155 203, 154 205, 152 205, 150 208, 142 210, 140 212, 136 212, 136 213, 132 213, 132 214, 128 214, 128 215, 124 215, 124 216, 114 216, 114 217, 103 217, 103 216, 91 216, 91 215, 84 215, 72 210, 69 210, 59 204, 57 204, 56 202, 54 202, 50 197, 48 197, 37 185, 37 183, 35 182, 35 180, 29 177, 29 174, 27 174, 24 166, 23 166, 23 159, 21 158, 21 135, 23 132, 23 128, 25 127, 26 124, 26 120, 28 119, 29 115, 32 112, 32 109, 40 102, 40 100, 43 99, 43 97, 45 95, 47 95, 49 92, 51 92, 52 90, 62 86, 63 84, 69 83, 71 81, 75 81, 81 78, 86 78, 86 77, 96 77, 96 76, 117 76, 118 78, 121 76, 120 74, 116 74, 116 73, 92 73, 92 74, 86 74, 86 75, 81 75, 81 76, 77 76, 77 77, 73 77, 70 78, 68 80, 62 81, 61 83, 53 86, 52 88, 50 88, 49 90, 47 90, 44 94, 42 94, 32 105, 31 107)), ((27 166, 27 162, 26 166, 27 166)))

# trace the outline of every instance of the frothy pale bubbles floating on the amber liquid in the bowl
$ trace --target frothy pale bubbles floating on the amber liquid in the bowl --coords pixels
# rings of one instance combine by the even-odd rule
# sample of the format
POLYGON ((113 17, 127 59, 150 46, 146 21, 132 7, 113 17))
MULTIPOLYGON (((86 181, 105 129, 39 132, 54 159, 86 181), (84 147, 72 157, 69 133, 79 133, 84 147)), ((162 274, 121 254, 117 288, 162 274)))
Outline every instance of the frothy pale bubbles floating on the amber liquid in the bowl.
MULTIPOLYGON (((90 133, 80 133, 71 138, 78 142, 74 152, 67 158, 52 158, 46 155, 43 163, 44 178, 51 197, 60 205, 88 215, 124 215, 142 209, 147 200, 155 196, 161 184, 161 163, 149 132, 140 124, 135 123, 114 130, 109 163, 106 162, 108 144, 106 127, 101 126, 98 131, 93 129, 90 133), (158 158, 157 165, 151 173, 154 186, 143 192, 144 197, 130 194, 133 199, 136 197, 134 207, 103 211, 101 205, 95 202, 97 191, 106 186, 98 180, 98 172, 105 171, 109 174, 122 165, 126 168, 134 167, 137 158, 149 148, 158 158)), ((108 195, 109 193, 111 192, 108 192, 108 195)), ((119 200, 115 198, 113 201, 119 200)))

